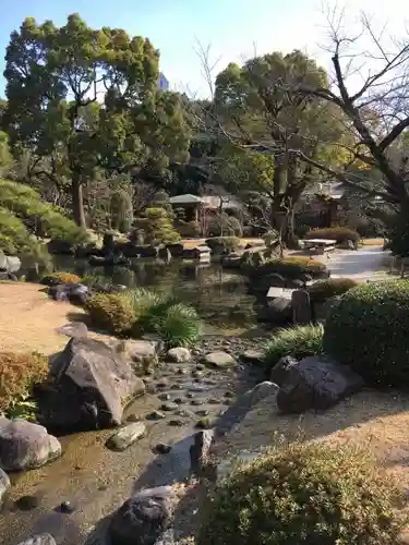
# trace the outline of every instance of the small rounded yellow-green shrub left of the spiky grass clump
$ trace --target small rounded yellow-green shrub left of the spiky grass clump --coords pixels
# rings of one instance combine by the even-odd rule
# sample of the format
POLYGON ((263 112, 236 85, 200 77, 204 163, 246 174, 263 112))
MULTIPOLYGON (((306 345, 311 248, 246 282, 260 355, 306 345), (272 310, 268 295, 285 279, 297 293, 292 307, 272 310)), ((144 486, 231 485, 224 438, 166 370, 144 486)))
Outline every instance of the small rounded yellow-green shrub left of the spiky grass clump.
POLYGON ((93 325, 113 335, 128 334, 135 320, 132 305, 121 293, 96 293, 85 310, 93 325))

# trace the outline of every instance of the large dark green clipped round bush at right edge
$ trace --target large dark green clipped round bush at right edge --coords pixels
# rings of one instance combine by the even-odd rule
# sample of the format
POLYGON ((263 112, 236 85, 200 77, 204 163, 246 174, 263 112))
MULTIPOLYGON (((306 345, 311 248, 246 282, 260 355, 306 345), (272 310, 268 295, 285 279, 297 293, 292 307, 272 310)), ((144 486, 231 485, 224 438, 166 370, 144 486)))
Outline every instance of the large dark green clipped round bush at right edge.
POLYGON ((409 281, 361 284, 329 310, 324 350, 369 384, 409 385, 409 281))

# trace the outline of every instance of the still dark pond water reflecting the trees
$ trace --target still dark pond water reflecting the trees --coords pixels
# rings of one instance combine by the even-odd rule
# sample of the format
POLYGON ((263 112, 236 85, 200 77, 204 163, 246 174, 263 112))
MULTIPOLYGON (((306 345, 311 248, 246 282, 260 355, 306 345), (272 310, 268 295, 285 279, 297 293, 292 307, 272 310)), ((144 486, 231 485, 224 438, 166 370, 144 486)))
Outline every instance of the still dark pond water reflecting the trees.
POLYGON ((175 295, 192 304, 206 323, 220 328, 256 323, 255 300, 248 292, 246 277, 226 270, 220 264, 135 259, 131 267, 92 267, 86 259, 59 256, 53 258, 53 268, 81 277, 93 276, 103 284, 144 287, 175 295))

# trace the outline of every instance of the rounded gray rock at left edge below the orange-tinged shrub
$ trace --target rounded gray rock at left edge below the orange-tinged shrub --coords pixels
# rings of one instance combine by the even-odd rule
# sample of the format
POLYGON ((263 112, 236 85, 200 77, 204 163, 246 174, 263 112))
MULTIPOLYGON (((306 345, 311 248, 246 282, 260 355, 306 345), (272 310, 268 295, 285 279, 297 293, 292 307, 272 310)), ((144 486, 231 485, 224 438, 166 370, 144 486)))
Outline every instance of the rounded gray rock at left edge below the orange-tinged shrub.
POLYGON ((47 429, 23 419, 0 427, 0 468, 26 471, 61 456, 61 445, 47 429))

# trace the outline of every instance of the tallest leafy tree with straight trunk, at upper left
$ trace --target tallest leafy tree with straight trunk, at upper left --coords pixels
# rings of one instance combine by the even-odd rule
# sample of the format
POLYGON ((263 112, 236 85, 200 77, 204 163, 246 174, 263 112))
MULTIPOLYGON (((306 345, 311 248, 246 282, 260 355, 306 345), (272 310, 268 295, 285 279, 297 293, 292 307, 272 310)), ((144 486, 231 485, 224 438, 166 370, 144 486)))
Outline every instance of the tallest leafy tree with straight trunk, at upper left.
POLYGON ((11 35, 4 71, 11 141, 37 164, 47 158, 52 175, 63 168, 80 226, 83 186, 96 169, 185 156, 178 97, 157 90, 158 60, 148 39, 89 28, 77 14, 62 27, 27 19, 11 35))

